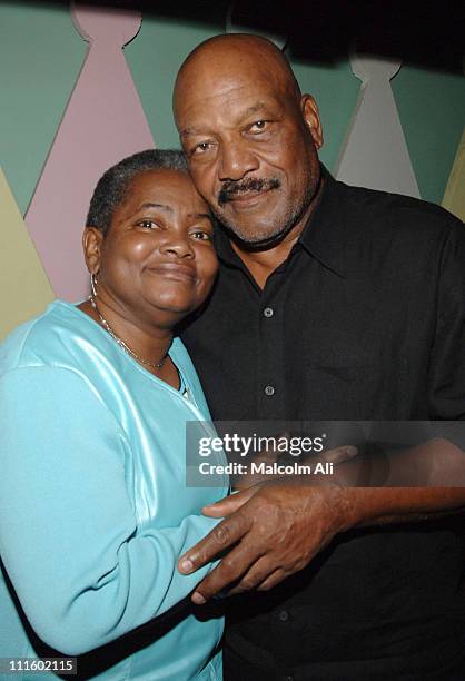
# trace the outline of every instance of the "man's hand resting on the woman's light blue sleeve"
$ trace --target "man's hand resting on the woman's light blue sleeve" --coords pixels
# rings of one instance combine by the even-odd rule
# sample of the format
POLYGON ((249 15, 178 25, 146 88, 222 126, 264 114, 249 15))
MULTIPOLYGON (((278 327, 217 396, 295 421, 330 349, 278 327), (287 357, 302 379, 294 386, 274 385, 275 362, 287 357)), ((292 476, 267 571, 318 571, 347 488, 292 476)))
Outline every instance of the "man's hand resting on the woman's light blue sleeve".
POLYGON ((336 533, 356 524, 346 492, 274 481, 206 506, 206 515, 226 517, 179 560, 179 571, 195 572, 229 552, 192 601, 205 603, 231 584, 230 594, 266 591, 303 570, 336 533))

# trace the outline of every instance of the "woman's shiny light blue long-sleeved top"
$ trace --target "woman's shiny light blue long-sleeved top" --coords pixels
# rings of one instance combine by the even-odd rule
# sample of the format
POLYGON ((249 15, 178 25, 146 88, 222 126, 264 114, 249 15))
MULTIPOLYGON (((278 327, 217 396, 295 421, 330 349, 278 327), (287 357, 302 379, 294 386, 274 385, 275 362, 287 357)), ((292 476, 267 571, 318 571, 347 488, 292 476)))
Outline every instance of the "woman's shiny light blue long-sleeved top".
MULTIPOLYGON (((208 571, 184 576, 176 561, 218 522, 199 512, 228 481, 186 487, 185 423, 209 413, 179 339, 170 356, 190 403, 60 300, 1 346, 0 555, 33 630, 63 653, 164 613, 208 571)), ((189 614, 98 678, 220 679, 221 632, 189 614)), ((34 657, 1 576, 0 657, 34 657)))

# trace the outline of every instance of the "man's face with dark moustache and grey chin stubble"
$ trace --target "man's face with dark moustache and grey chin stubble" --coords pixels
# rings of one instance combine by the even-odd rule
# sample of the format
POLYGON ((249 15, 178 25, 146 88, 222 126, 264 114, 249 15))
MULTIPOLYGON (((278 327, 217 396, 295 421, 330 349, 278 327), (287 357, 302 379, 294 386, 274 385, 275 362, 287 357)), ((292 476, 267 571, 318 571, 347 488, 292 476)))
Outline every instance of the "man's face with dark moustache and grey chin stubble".
POLYGON ((287 234, 305 217, 319 179, 313 99, 298 102, 273 75, 244 70, 191 79, 178 95, 189 169, 216 217, 248 244, 287 234))

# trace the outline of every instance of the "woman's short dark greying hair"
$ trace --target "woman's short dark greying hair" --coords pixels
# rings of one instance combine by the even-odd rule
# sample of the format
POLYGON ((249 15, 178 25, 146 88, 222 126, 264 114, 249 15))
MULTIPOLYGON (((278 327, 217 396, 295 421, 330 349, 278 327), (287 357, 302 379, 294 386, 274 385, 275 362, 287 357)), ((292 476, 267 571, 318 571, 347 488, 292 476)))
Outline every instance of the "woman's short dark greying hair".
POLYGON ((176 149, 146 149, 123 158, 109 168, 97 182, 90 199, 86 225, 97 227, 103 235, 110 228, 115 209, 125 200, 132 179, 147 170, 179 170, 187 172, 186 158, 176 149))

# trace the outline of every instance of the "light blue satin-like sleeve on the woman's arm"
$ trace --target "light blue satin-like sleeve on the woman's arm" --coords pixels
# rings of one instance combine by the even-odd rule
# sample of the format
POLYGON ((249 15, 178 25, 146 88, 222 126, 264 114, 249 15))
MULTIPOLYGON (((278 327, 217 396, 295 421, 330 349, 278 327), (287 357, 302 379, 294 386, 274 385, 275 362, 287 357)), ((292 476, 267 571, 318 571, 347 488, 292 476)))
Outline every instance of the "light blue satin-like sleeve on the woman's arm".
POLYGON ((0 381, 0 553, 37 634, 67 654, 100 647, 167 611, 192 575, 177 560, 218 522, 189 515, 136 535, 128 443, 78 373, 19 368, 0 381))

